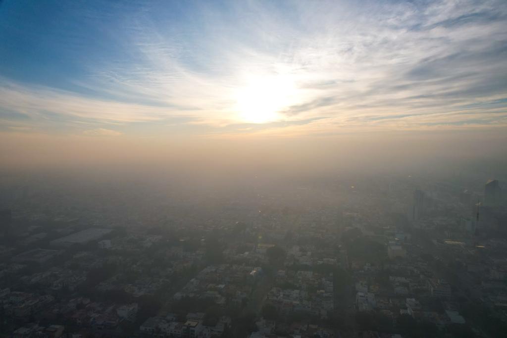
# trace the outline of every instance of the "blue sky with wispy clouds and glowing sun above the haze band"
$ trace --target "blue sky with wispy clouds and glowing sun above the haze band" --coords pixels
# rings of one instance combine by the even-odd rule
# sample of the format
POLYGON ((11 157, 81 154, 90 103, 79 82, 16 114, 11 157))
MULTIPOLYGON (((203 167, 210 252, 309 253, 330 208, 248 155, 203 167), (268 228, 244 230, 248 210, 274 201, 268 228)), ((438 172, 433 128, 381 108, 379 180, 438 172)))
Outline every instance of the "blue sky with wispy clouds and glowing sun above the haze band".
POLYGON ((318 135, 507 125, 504 1, 0 5, 0 131, 318 135))

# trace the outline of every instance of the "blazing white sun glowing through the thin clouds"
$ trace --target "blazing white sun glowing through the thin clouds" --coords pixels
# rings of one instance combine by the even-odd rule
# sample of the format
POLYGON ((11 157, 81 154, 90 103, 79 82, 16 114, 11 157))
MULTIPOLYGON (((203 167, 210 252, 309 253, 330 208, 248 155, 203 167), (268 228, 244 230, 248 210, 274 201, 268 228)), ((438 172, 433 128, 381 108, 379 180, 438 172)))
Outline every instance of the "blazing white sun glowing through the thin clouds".
POLYGON ((291 105, 294 82, 283 76, 248 77, 235 94, 236 110, 247 123, 268 123, 280 119, 280 112, 291 105))

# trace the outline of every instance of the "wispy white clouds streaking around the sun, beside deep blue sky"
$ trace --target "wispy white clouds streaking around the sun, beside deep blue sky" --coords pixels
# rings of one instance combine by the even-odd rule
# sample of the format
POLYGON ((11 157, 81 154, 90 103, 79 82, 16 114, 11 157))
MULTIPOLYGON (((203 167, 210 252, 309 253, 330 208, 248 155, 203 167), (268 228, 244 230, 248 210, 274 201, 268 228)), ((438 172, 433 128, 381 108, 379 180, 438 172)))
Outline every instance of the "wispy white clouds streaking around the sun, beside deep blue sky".
POLYGON ((163 20, 162 7, 122 10, 104 37, 118 57, 79 60, 75 90, 5 78, 0 109, 31 117, 29 127, 50 111, 95 131, 175 117, 208 126, 203 133, 232 132, 247 122, 238 92, 255 78, 288 89, 279 88, 275 117, 245 132, 506 123, 502 1, 203 3, 178 22, 163 20))

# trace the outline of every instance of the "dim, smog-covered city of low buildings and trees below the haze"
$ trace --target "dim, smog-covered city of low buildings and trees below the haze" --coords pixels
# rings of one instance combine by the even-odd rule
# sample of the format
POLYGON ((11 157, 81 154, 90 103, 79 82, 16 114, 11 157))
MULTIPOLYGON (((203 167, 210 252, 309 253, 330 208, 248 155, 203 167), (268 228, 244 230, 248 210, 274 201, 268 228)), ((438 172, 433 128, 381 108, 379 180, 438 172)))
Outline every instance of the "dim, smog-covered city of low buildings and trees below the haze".
POLYGON ((496 179, 302 180, 133 213, 115 186, 78 204, 64 181, 50 199, 48 177, 17 179, 4 176, 0 247, 2 331, 15 337, 506 332, 496 179))

